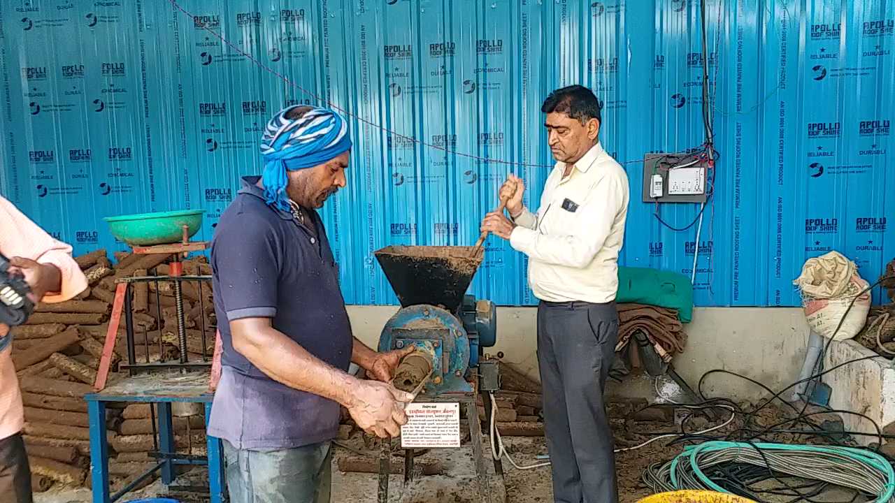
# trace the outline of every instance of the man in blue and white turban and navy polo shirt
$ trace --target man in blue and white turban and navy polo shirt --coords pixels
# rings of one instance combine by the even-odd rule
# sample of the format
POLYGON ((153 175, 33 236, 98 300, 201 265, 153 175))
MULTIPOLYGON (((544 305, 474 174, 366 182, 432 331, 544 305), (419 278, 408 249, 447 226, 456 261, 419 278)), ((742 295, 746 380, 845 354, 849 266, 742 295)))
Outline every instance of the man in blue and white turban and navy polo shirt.
POLYGON ((340 405, 364 431, 396 437, 413 396, 389 381, 413 349, 376 353, 352 335, 315 210, 345 187, 345 120, 289 107, 260 147, 264 171, 243 178, 211 246, 224 351, 208 432, 224 441, 234 503, 325 503, 340 405), (377 380, 349 374, 351 362, 377 380))

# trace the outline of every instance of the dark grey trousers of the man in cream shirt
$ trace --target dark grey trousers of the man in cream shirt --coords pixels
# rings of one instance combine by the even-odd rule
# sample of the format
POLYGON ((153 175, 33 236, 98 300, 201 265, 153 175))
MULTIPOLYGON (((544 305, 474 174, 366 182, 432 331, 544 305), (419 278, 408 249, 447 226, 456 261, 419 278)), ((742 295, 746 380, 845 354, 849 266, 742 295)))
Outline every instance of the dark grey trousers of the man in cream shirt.
POLYGON ((603 389, 618 340, 615 303, 541 303, 538 364, 557 503, 617 503, 603 389))

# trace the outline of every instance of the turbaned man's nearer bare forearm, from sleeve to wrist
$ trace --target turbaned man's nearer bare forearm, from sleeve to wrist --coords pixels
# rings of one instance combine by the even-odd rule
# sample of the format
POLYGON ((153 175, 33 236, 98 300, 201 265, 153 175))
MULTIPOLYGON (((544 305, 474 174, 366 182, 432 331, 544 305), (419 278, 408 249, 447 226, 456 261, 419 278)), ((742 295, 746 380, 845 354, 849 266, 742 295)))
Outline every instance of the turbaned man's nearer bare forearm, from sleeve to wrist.
MULTIPOLYGON (((231 323, 239 325, 243 320, 231 323)), ((234 349, 260 371, 288 386, 323 396, 341 405, 353 403, 355 379, 347 372, 322 362, 301 345, 268 324, 233 330, 234 349)))

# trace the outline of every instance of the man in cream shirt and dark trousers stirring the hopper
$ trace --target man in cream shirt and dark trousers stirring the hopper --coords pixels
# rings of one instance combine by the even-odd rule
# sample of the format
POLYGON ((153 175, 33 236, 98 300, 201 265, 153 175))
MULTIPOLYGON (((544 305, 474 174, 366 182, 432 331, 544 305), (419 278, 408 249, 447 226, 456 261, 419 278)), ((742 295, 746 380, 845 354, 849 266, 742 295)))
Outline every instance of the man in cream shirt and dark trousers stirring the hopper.
POLYGON ((618 251, 625 234, 625 170, 598 140, 600 101, 570 86, 550 93, 548 143, 557 165, 537 213, 524 208, 524 184, 509 175, 500 189, 507 211, 482 230, 529 257, 538 305, 538 364, 553 497, 562 503, 616 503, 612 431, 603 389, 618 340, 618 251))

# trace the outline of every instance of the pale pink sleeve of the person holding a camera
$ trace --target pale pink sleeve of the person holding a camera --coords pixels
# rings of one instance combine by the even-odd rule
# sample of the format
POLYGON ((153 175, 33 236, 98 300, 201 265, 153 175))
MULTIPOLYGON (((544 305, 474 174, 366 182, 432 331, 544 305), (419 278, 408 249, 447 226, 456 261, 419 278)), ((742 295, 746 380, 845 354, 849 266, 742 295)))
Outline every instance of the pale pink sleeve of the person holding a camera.
POLYGON ((62 291, 44 295, 41 302, 61 303, 87 288, 87 277, 72 259, 72 246, 53 238, 8 200, 0 197, 0 252, 7 258, 25 257, 53 264, 62 273, 62 291))

